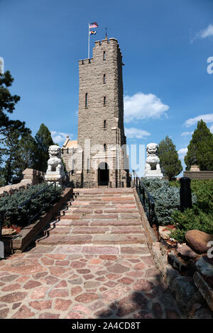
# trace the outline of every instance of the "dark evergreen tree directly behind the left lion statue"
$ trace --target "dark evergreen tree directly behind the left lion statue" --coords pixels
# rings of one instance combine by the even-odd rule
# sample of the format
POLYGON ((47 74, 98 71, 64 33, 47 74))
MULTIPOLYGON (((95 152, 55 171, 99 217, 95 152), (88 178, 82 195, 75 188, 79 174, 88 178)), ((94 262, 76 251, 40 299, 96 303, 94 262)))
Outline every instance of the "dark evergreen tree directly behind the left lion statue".
POLYGON ((48 149, 51 145, 54 145, 54 142, 50 131, 44 124, 40 125, 40 128, 35 135, 35 143, 37 145, 35 169, 45 172, 48 167, 48 149))

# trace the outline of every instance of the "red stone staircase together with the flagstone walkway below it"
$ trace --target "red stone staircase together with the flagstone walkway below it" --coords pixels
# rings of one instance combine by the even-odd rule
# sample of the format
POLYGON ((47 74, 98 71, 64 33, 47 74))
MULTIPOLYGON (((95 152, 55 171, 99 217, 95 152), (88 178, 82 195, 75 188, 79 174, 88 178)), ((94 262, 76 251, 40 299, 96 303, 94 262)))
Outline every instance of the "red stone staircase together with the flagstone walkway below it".
POLYGON ((41 238, 33 249, 0 261, 0 318, 181 318, 173 296, 160 281, 143 228, 138 225, 132 189, 88 189, 80 191, 74 203, 69 215, 73 218, 75 207, 78 220, 70 218, 70 224, 62 224, 64 215, 52 222, 58 234, 51 235, 50 230, 50 237, 41 238), (136 219, 130 218, 130 210, 136 219), (103 222, 103 233, 95 226, 94 235, 88 235, 81 220, 88 218, 86 226, 92 227, 92 221, 98 222, 94 215, 103 222), (73 225, 79 233, 72 233, 73 225), (84 229, 79 230, 81 227, 84 229), (104 237, 112 243, 105 244, 104 237))

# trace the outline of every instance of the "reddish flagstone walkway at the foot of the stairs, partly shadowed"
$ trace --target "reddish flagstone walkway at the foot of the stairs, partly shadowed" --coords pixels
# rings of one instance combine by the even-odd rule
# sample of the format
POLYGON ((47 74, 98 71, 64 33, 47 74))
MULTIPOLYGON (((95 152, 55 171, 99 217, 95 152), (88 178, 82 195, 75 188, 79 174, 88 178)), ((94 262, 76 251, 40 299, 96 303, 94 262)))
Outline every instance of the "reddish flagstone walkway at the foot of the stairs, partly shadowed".
POLYGON ((0 261, 0 318, 181 315, 146 244, 46 243, 0 261))

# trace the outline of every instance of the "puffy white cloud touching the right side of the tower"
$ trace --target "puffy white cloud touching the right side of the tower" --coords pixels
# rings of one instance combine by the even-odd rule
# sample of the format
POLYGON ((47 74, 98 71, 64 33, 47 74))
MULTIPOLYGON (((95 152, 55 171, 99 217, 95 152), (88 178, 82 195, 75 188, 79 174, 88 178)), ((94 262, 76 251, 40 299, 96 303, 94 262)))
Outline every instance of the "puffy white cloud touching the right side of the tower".
POLYGON ((132 120, 145 118, 160 118, 166 115, 169 106, 163 104, 160 98, 154 94, 138 92, 133 96, 124 96, 124 120, 130 123, 132 120))

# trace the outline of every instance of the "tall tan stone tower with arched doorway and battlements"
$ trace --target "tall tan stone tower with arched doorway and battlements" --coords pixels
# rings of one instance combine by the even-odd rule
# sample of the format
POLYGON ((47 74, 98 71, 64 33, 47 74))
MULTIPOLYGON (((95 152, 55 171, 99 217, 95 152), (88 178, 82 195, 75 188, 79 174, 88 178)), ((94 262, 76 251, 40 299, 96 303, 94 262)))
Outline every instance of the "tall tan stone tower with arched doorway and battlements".
MULTIPOLYGON (((122 55, 116 39, 95 42, 93 57, 79 61, 77 149, 67 152, 73 179, 94 187, 129 186, 129 160, 124 134, 122 55)), ((67 162, 66 162, 67 161, 67 162)), ((68 162, 69 161, 69 162, 68 162)))

